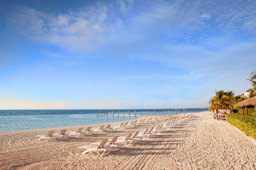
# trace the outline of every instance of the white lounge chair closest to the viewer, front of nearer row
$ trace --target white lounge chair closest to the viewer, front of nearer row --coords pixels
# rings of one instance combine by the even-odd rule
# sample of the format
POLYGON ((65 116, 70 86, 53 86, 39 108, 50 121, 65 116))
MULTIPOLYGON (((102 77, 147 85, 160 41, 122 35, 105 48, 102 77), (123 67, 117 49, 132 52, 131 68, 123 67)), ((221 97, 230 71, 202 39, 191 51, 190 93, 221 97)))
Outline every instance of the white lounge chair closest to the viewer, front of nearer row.
POLYGON ((81 154, 85 154, 90 151, 96 151, 99 157, 102 157, 105 152, 109 153, 112 150, 112 147, 105 145, 107 141, 108 141, 107 139, 102 140, 98 146, 93 146, 93 145, 80 146, 77 148, 77 150, 81 154), (85 151, 81 152, 81 149, 85 149, 85 151), (100 151, 103 151, 101 155, 100 155, 100 151))

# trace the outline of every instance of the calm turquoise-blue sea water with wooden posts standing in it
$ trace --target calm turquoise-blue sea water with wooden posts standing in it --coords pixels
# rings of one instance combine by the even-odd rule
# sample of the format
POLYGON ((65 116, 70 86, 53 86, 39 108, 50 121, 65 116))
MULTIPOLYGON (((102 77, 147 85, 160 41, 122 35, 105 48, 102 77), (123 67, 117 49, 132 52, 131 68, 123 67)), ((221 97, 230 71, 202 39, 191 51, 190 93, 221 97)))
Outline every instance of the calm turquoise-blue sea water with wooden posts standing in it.
MULTIPOLYGON (((167 115, 169 115, 169 110, 171 114, 172 111, 175 113, 175 109, 156 109, 156 115, 158 115, 158 111, 160 115, 162 115, 162 112, 165 115, 165 110, 167 115)), ((179 110, 180 113, 183 113, 183 109, 179 110)), ((207 108, 189 108, 187 109, 187 113, 207 110, 207 108)), ((80 126, 130 121, 140 118, 140 109, 136 109, 137 117, 134 117, 134 109, 130 110, 131 117, 128 116, 128 110, 118 111, 119 117, 117 117, 117 110, 0 110, 0 132, 80 126), (114 117, 112 117, 113 111, 115 113, 114 117), (125 116, 123 116, 123 111, 125 112, 125 116), (100 112, 98 117, 96 117, 96 112, 100 112)), ((152 115, 155 109, 143 109, 143 116, 146 116, 146 111, 149 111, 150 115, 152 115)))

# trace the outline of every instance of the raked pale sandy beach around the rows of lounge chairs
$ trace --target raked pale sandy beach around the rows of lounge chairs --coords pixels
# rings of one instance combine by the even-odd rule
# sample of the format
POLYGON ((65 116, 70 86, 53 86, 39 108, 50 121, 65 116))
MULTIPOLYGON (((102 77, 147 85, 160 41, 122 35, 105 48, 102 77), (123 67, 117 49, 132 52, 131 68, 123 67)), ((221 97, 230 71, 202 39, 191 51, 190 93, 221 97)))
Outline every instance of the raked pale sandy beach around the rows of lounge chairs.
MULTIPOLYGON (((143 117, 145 118, 145 117, 143 117)), ((256 143, 226 121, 213 120, 210 112, 195 114, 160 135, 123 147, 103 157, 79 154, 78 146, 113 136, 144 131, 166 121, 132 128, 87 134, 56 141, 36 135, 62 128, 0 133, 1 169, 256 169, 256 143)), ((120 123, 112 123, 111 126, 120 123)), ((83 126, 84 128, 87 127, 83 126)), ((99 127, 94 125, 93 127, 99 127)), ((76 130, 78 127, 65 129, 76 130)))

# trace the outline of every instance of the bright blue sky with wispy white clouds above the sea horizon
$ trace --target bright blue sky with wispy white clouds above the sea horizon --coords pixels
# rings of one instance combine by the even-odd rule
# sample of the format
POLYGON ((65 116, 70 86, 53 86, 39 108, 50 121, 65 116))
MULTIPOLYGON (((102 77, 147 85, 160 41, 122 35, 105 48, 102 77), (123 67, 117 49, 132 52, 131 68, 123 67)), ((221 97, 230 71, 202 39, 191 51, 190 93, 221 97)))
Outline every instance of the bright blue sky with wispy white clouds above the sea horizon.
POLYGON ((0 109, 209 107, 256 70, 256 1, 0 1, 0 109))

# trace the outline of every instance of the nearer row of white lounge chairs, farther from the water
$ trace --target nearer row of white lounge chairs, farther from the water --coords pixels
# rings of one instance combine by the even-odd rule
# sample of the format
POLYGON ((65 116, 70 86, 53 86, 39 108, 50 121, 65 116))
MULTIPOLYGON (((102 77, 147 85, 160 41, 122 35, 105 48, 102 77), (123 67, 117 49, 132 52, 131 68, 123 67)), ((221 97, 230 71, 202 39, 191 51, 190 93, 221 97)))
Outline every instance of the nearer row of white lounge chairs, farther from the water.
POLYGON ((104 153, 110 153, 112 150, 121 149, 124 144, 125 146, 128 147, 132 143, 137 143, 142 141, 143 138, 148 139, 149 136, 158 135, 162 131, 169 129, 171 126, 189 119, 191 116, 193 115, 188 115, 188 116, 179 118, 177 120, 169 121, 166 123, 164 127, 163 127, 163 124, 161 124, 161 125, 158 125, 156 128, 154 127, 152 127, 151 129, 147 128, 143 133, 139 133, 139 131, 136 131, 133 135, 132 133, 129 133, 127 136, 124 136, 124 137, 115 136, 109 142, 108 142, 108 139, 104 139, 100 142, 92 143, 91 145, 80 146, 77 148, 77 150, 80 154, 85 154, 90 151, 96 151, 98 156, 102 157, 104 153), (82 152, 82 150, 84 151, 82 152), (100 152, 102 153, 100 154, 100 152))

